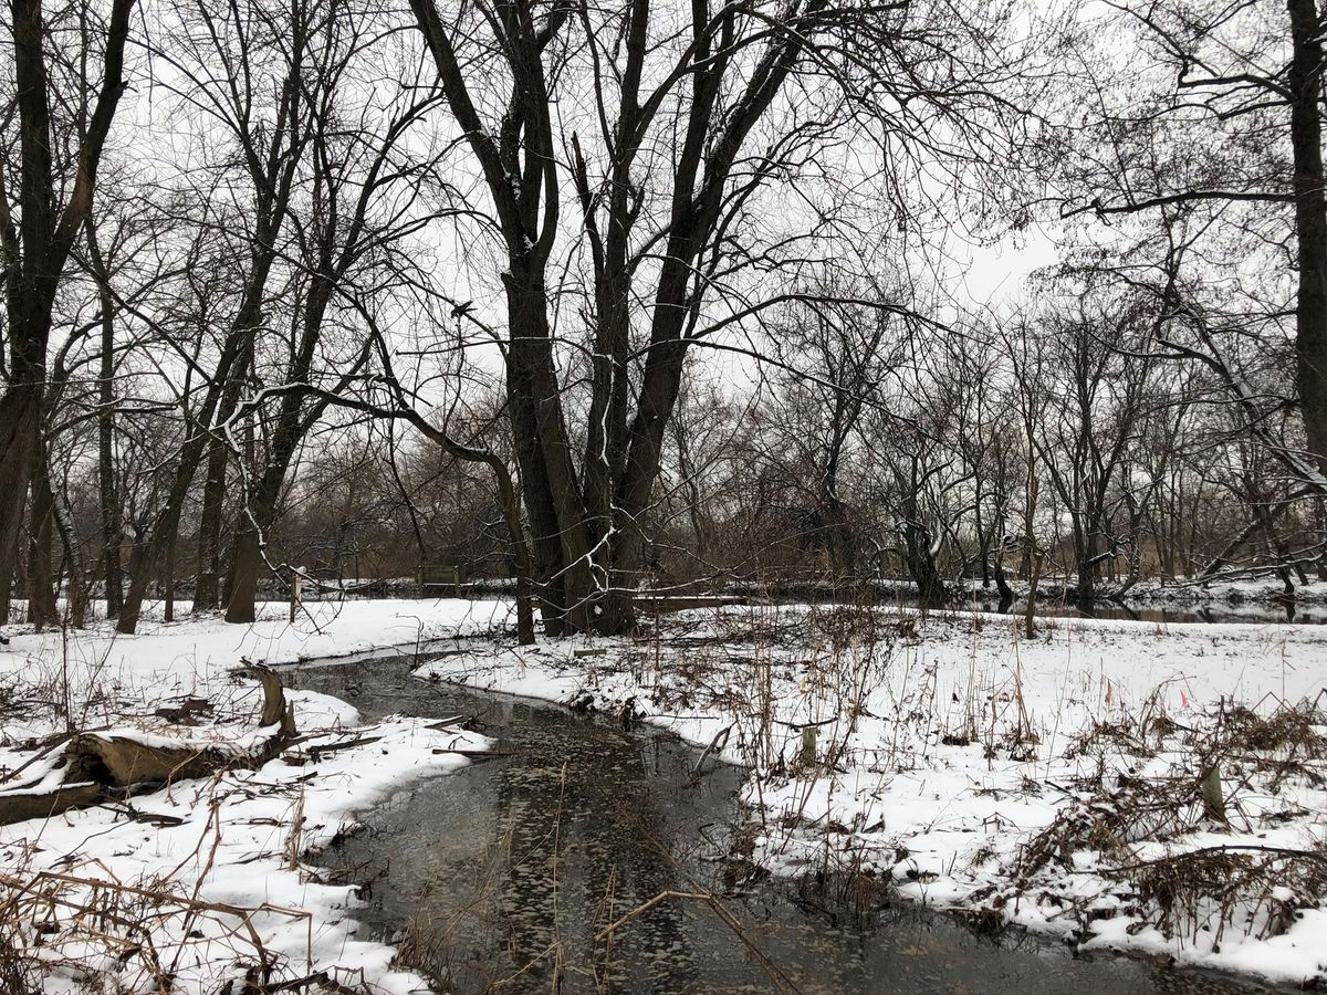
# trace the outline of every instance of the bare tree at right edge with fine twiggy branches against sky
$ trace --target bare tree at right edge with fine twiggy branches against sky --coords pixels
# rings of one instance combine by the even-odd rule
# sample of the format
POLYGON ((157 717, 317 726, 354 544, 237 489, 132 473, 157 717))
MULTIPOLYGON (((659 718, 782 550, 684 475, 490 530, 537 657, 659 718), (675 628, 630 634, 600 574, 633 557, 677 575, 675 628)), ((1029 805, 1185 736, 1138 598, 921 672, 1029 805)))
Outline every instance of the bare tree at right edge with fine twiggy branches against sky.
MULTIPOLYGON (((1084 15, 1089 19, 1089 15, 1084 15)), ((1125 3, 1108 23, 1076 25, 1071 50, 1084 68, 1070 88, 1060 159, 1066 214, 1136 219, 1162 236, 1151 241, 1160 263, 1177 223, 1188 252, 1190 289, 1208 287, 1204 305, 1262 310, 1269 341, 1282 337, 1281 291, 1294 271, 1294 381, 1304 446, 1295 472, 1327 490, 1327 200, 1323 195, 1323 19, 1312 0, 1226 4, 1125 3), (1139 40, 1132 54, 1121 31, 1139 40), (1107 48, 1105 40, 1109 38, 1107 48), (1131 60, 1125 62, 1125 60, 1131 60), (1084 106, 1088 113, 1084 115, 1084 106), (1238 150, 1238 151, 1234 151, 1238 150), (1262 260, 1253 287, 1214 289, 1235 264, 1262 260), (1222 279, 1218 279, 1217 275, 1222 279)), ((1204 348, 1221 364, 1220 342, 1204 348)), ((1225 370, 1233 374, 1231 369, 1225 370)), ((1249 385, 1231 379, 1237 401, 1249 385)))

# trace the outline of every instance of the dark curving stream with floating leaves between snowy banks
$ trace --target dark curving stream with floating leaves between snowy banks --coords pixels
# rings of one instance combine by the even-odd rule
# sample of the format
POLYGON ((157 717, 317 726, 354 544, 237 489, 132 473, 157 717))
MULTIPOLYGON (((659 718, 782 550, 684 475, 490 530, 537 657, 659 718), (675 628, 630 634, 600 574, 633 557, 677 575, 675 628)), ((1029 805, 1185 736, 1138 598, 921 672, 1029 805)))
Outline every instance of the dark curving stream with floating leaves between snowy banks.
POLYGON ((1253 992, 1123 957, 978 935, 882 892, 752 877, 740 771, 544 703, 415 681, 426 658, 301 666, 366 719, 466 716, 495 755, 365 813, 318 862, 364 886, 364 930, 453 992, 1253 992), (713 767, 713 764, 710 764, 713 767), (610 923, 661 898, 596 939, 610 923))

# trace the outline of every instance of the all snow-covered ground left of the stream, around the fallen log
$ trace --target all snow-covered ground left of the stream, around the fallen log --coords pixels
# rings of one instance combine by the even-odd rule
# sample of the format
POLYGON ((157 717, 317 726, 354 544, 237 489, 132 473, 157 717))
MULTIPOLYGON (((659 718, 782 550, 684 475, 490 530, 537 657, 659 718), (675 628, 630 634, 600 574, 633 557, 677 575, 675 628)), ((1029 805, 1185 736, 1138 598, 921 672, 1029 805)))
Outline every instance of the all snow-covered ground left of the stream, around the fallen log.
MULTIPOLYGON (((11 630, 0 651, 0 799, 58 783, 70 731, 249 750, 265 735, 259 686, 232 674, 242 661, 490 631, 506 612, 495 602, 357 601, 311 605, 295 624, 271 605, 244 628, 202 618, 147 620, 134 637, 107 626, 11 630)), ((356 938, 353 889, 326 880, 316 853, 357 812, 410 779, 467 763, 486 740, 409 718, 364 726, 336 698, 287 694, 299 738, 257 769, 236 765, 0 827, 0 988, 238 992, 245 978, 326 978, 357 991, 425 990, 393 968, 390 947, 356 938)))

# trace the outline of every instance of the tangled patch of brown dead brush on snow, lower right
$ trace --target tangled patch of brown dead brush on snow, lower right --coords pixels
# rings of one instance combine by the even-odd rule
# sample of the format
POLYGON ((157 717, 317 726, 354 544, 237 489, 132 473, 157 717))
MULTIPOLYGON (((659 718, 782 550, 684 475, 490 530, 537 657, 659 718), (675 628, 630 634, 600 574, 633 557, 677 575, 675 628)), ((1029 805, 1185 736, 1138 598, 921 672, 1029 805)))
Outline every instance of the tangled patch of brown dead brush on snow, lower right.
POLYGON ((1051 901, 1079 918, 1082 935, 1095 918, 1131 915, 1131 933, 1154 927, 1214 951, 1231 934, 1285 933, 1300 909, 1327 899, 1327 848, 1258 840, 1304 815, 1273 804, 1291 780, 1327 783, 1323 724, 1318 702, 1274 698, 1254 708, 1221 703, 1192 727, 1156 711, 1097 723, 1071 746, 1095 771, 1063 785, 1071 801, 1022 849, 1011 886, 979 901, 1051 901), (1165 773, 1128 773, 1149 759, 1165 760, 1165 773), (1223 785, 1216 804, 1213 771, 1223 785), (1084 866, 1109 882, 1117 907, 1103 911, 1060 886, 1064 872, 1084 866))

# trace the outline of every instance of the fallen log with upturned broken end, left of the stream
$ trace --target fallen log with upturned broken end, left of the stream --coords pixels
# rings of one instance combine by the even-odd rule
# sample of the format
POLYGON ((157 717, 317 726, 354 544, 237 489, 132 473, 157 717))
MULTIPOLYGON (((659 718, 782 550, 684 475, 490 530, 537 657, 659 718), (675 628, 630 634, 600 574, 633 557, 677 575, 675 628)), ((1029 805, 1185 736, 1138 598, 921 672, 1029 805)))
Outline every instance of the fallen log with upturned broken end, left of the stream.
POLYGON ((265 740, 239 748, 173 742, 165 736, 80 732, 65 742, 54 767, 46 768, 48 773, 37 783, 0 792, 0 825, 49 819, 74 808, 98 805, 149 785, 170 784, 187 777, 210 777, 235 767, 261 767, 295 738, 295 706, 287 702, 281 678, 269 667, 247 665, 238 673, 256 678, 263 687, 259 724, 260 728, 273 730, 265 740), (38 788, 37 784, 49 780, 50 769, 61 771, 60 781, 53 787, 44 784, 38 788))

